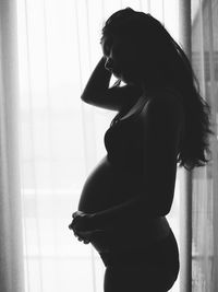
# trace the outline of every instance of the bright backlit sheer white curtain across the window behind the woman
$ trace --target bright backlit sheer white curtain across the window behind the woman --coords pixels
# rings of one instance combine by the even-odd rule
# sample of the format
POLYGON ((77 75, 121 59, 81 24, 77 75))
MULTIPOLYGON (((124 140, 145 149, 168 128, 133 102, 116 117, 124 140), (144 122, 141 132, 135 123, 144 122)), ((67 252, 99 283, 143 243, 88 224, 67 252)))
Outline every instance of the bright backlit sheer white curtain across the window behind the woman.
MULTIPOLYGON (((9 270, 14 273, 16 267, 20 271, 24 267, 25 288, 17 285, 19 292, 102 291, 105 268, 99 256, 89 245, 77 242, 68 225, 87 174, 105 155, 104 132, 116 113, 83 104, 80 96, 101 57, 99 38, 104 20, 121 8, 131 7, 164 21, 178 39, 178 1, 14 0, 1 1, 1 5, 5 5, 8 12, 11 9, 15 12, 17 5, 17 22, 11 14, 10 21, 5 20, 8 14, 1 10, 4 38, 10 32, 17 33, 17 43, 12 35, 14 43, 9 43, 8 47, 4 43, 1 48, 5 47, 4 54, 10 54, 8 48, 11 47, 19 50, 17 74, 4 58, 0 68, 0 208, 5 220, 10 217, 0 222, 0 226, 2 222, 10 222, 10 225, 4 224, 7 229, 5 230, 5 234, 0 238, 4 245, 13 244, 2 249, 8 250, 5 255, 1 253, 2 260, 13 258, 16 265, 9 270), (7 66, 13 77, 8 73, 7 66), (11 83, 4 86, 8 78, 11 83), (10 98, 7 94, 12 96, 12 89, 13 98, 10 98), (16 100, 17 92, 20 98, 16 100), (10 139, 8 144, 4 142, 8 135, 14 139, 13 148, 10 139), (20 155, 16 155, 19 142, 16 145, 14 141, 20 142, 20 155), (13 160, 5 164, 8 156, 13 160), (9 165, 13 165, 13 172, 9 172, 9 165), (8 173, 10 182, 3 177, 8 173), (4 186, 13 186, 13 194, 7 189, 4 196, 4 186), (23 232, 19 222, 22 222, 23 232)), ((169 220, 179 240, 179 183, 175 192, 169 220)), ((5 275, 10 276, 7 271, 5 275)), ((5 284, 8 290, 2 288, 2 291, 16 291, 11 287, 11 282, 17 282, 16 277, 10 277, 5 284)), ((173 292, 179 291, 178 285, 173 292)))

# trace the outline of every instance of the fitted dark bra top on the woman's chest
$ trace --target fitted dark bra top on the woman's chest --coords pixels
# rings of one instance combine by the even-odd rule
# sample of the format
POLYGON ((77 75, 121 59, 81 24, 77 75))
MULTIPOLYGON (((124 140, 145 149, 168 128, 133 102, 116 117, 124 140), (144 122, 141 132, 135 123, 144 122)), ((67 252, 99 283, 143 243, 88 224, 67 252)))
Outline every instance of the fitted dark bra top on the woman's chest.
POLYGON ((134 174, 143 173, 143 122, 140 113, 144 105, 128 118, 125 108, 112 120, 105 133, 105 147, 109 162, 116 167, 134 174))

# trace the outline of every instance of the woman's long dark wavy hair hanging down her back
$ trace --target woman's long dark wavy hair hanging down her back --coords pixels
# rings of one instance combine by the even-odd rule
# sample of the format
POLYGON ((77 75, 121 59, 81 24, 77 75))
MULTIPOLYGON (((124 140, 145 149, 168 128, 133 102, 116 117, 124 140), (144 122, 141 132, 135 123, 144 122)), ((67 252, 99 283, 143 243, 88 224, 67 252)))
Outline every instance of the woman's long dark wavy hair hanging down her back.
MULTIPOLYGON (((131 8, 117 11, 106 21, 101 39, 112 36, 125 42, 124 50, 130 44, 134 56, 140 56, 137 71, 145 86, 167 84, 182 96, 185 128, 178 155, 179 166, 192 170, 206 165, 210 155, 209 135, 213 133, 210 106, 199 94, 198 81, 181 46, 159 21, 131 8)), ((119 86, 120 80, 114 85, 119 86)))

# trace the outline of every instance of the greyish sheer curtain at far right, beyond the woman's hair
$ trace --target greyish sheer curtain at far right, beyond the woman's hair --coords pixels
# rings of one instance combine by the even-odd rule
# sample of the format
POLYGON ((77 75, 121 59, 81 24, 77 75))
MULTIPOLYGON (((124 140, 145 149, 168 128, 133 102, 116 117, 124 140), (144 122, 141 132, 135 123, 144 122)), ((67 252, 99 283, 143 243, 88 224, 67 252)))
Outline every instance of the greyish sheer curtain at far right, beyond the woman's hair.
POLYGON ((218 291, 218 1, 192 0, 192 62, 211 106, 211 163, 193 177, 193 291, 218 291))

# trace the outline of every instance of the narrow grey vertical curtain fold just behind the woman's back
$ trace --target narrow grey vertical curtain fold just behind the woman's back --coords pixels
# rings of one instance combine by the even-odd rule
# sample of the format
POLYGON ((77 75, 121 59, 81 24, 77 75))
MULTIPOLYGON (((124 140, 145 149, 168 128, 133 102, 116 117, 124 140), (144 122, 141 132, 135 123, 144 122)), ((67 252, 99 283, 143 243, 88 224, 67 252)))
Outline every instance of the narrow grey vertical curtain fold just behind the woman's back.
MULTIPOLYGON (((191 61, 191 2, 179 1, 180 43, 191 61)), ((181 170, 180 176, 180 291, 192 291, 192 172, 181 170)))

